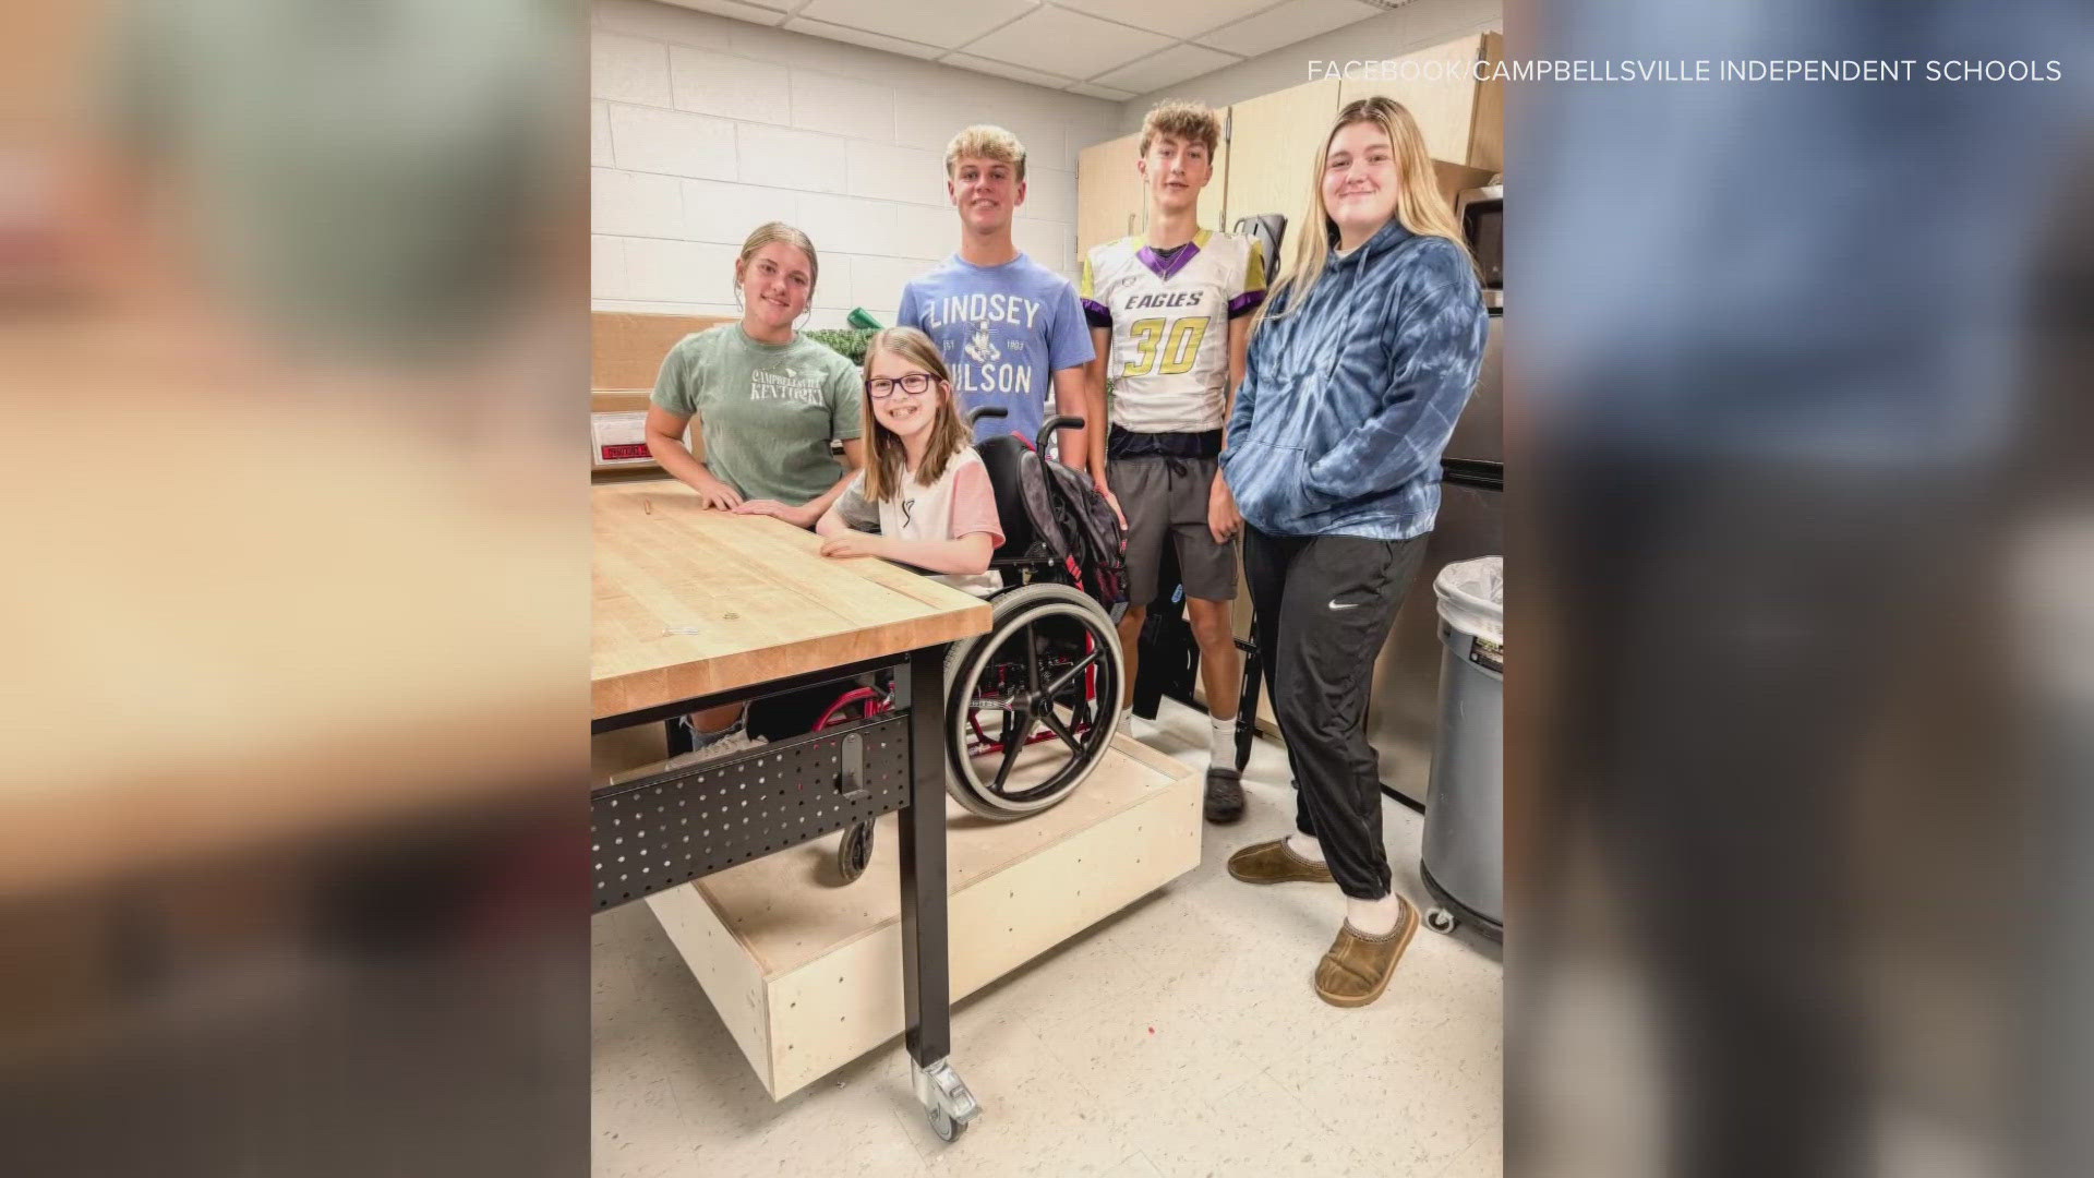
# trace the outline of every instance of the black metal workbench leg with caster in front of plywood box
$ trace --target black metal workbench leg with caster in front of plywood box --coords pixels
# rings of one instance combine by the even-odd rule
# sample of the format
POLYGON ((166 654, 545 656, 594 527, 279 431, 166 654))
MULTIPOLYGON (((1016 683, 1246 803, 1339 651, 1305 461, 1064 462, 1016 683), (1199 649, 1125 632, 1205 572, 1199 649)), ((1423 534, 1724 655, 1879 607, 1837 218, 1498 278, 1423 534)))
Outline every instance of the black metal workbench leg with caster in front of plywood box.
POLYGON ((932 1130, 957 1138, 980 1113, 946 1059, 953 1050, 953 983, 944 893, 944 646, 909 656, 898 688, 909 708, 909 807, 900 811, 903 1044, 917 1100, 932 1130))

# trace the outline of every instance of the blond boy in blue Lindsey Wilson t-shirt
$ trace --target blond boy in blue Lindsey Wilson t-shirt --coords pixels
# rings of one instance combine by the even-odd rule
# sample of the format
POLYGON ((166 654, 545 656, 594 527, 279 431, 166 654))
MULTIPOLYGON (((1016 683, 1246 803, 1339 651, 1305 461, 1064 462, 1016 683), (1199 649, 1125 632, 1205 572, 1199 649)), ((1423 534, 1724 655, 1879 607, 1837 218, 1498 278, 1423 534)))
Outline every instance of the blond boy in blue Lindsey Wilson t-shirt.
MULTIPOLYGON (((972 126, 944 149, 944 191, 959 210, 959 254, 903 287, 900 325, 938 344, 961 411, 1009 409, 984 417, 976 438, 1024 434, 1055 413, 1087 411, 1085 365, 1095 354, 1076 287, 1011 245, 1011 218, 1026 199, 1026 149, 995 126, 972 126)), ((1089 428, 1104 428, 1101 421, 1089 428)), ((1089 470, 1087 430, 1064 430, 1062 461, 1089 470)))

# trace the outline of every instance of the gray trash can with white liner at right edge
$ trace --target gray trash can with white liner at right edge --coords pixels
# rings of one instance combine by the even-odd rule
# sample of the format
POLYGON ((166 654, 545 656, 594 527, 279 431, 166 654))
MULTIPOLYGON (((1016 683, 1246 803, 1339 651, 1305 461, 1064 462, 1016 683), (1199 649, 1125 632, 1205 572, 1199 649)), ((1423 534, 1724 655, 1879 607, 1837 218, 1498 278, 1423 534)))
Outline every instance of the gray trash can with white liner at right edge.
POLYGON ((1441 696, 1422 874, 1426 924, 1501 939, 1506 918, 1506 560, 1449 564, 1439 597, 1441 696))

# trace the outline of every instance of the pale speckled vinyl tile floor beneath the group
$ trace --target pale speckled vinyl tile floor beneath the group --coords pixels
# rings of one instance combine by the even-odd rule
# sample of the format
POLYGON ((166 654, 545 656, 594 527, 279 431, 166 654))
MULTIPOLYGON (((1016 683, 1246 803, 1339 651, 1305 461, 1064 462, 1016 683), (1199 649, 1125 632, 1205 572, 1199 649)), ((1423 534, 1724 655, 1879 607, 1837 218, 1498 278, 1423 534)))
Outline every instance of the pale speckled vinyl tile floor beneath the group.
MULTIPOLYGON (((1206 765, 1206 715, 1164 700, 1135 738, 1206 765)), ((982 1115, 940 1142, 900 1040, 773 1103, 653 912, 595 918, 593 1174, 1009 1176, 1501 1172, 1501 966, 1466 929, 1420 929, 1372 1006, 1309 977, 1342 920, 1332 887, 1252 889, 1225 861, 1294 824, 1286 750, 1256 740, 1240 824, 1200 866, 953 1010, 982 1115)), ((1382 801, 1420 908, 1424 817, 1382 801)))

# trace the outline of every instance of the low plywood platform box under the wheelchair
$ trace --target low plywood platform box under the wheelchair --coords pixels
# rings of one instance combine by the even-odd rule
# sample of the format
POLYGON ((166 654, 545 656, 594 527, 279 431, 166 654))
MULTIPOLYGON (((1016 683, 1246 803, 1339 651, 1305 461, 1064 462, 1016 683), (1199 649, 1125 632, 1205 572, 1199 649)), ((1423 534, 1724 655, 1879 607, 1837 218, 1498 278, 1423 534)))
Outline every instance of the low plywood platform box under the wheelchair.
MULTIPOLYGON (((647 897, 775 1100, 903 1033, 894 815, 856 882, 833 885, 836 843, 647 897)), ((1200 773, 1124 738, 1041 815, 988 822, 949 805, 953 1000, 1196 866, 1200 773)), ((965 1067, 967 1044, 953 1054, 965 1067)))

